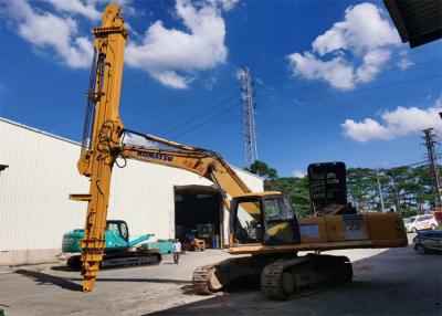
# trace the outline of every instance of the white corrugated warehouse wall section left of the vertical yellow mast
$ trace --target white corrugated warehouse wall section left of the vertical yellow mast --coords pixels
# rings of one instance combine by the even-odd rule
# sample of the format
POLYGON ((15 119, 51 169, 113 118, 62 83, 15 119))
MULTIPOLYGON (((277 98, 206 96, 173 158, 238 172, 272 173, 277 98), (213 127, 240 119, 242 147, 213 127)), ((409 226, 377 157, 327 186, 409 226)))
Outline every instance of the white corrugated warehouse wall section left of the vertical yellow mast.
POLYGON ((61 247, 61 238, 82 227, 84 210, 69 200, 86 193, 75 168, 80 147, 0 120, 0 251, 61 247))

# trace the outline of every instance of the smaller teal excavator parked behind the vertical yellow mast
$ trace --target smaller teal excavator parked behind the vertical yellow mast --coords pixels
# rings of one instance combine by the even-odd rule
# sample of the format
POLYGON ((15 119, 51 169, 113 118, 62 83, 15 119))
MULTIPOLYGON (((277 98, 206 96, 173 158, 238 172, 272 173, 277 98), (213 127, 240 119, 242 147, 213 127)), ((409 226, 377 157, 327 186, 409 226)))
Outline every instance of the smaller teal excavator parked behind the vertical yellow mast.
MULTIPOLYGON (((84 230, 80 229, 63 234, 62 251, 70 254, 67 266, 72 270, 80 270, 82 266, 81 242, 83 236, 84 230)), ((106 221, 106 246, 101 265, 102 268, 159 263, 161 254, 158 250, 138 245, 152 236, 154 234, 145 234, 129 241, 129 230, 125 221, 106 221)))

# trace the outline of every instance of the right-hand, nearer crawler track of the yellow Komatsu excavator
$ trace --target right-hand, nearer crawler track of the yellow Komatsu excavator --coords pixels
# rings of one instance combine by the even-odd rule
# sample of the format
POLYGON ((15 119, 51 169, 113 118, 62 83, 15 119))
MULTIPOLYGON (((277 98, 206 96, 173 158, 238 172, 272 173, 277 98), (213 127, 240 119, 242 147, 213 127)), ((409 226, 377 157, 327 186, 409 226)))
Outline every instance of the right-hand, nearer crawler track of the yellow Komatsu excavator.
POLYGON ((271 299, 293 298, 299 289, 350 282, 351 264, 346 256, 306 255, 283 257, 261 273, 261 291, 271 299))

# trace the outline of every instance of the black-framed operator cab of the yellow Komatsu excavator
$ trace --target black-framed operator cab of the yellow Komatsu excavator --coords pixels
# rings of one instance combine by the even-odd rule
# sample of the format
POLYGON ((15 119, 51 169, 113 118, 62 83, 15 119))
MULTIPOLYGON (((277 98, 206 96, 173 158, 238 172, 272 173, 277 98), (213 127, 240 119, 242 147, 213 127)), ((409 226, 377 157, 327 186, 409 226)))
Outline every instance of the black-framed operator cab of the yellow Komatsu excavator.
POLYGON ((299 227, 286 194, 249 193, 235 197, 231 204, 231 232, 235 245, 297 244, 299 227))

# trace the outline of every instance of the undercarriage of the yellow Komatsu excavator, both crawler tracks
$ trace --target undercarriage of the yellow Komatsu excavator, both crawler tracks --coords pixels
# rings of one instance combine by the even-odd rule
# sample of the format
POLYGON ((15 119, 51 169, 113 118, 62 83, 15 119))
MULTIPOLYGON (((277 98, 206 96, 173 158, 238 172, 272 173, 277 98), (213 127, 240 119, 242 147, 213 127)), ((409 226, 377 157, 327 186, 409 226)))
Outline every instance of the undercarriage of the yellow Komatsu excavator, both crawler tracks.
POLYGON ((257 280, 269 298, 288 299, 301 289, 348 283, 352 267, 346 256, 252 255, 200 266, 193 272, 192 283, 197 294, 212 294, 243 277, 257 280))

